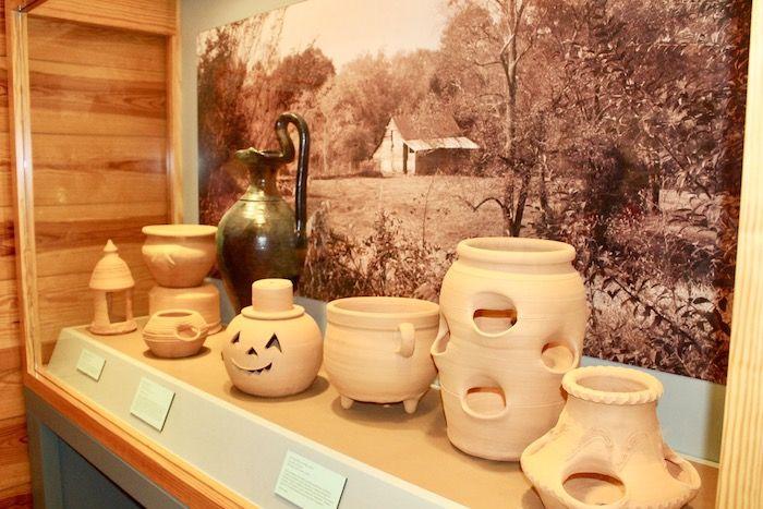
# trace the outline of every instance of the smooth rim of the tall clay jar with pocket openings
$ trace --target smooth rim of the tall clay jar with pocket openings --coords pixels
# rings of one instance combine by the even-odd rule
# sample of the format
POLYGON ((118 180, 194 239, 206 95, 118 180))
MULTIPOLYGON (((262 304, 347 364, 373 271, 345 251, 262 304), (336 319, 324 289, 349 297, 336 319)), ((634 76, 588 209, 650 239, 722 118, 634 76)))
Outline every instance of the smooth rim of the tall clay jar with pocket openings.
POLYGON ((565 242, 518 237, 477 237, 462 240, 460 258, 491 264, 556 265, 572 262, 574 247, 565 242))

